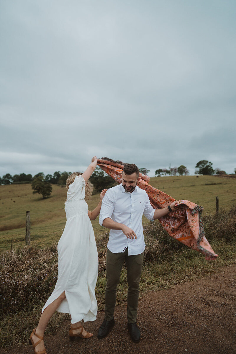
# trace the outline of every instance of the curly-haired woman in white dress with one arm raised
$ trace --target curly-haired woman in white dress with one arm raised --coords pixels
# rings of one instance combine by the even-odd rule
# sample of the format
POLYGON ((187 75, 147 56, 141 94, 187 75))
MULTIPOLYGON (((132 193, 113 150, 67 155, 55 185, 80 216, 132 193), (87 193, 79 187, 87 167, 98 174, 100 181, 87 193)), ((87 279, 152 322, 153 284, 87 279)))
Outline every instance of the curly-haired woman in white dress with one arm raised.
POLYGON ((92 337, 92 333, 86 332, 80 321, 94 321, 97 315, 94 289, 98 276, 98 252, 90 220, 98 216, 107 189, 103 189, 98 206, 92 212, 84 200, 92 195, 93 185, 88 179, 96 166, 97 158, 94 156, 84 173, 74 172, 67 178, 67 222, 57 246, 57 283, 42 309, 38 327, 30 335, 30 344, 33 344, 34 352, 38 354, 46 354, 44 332, 56 310, 70 314, 70 338, 92 337))

